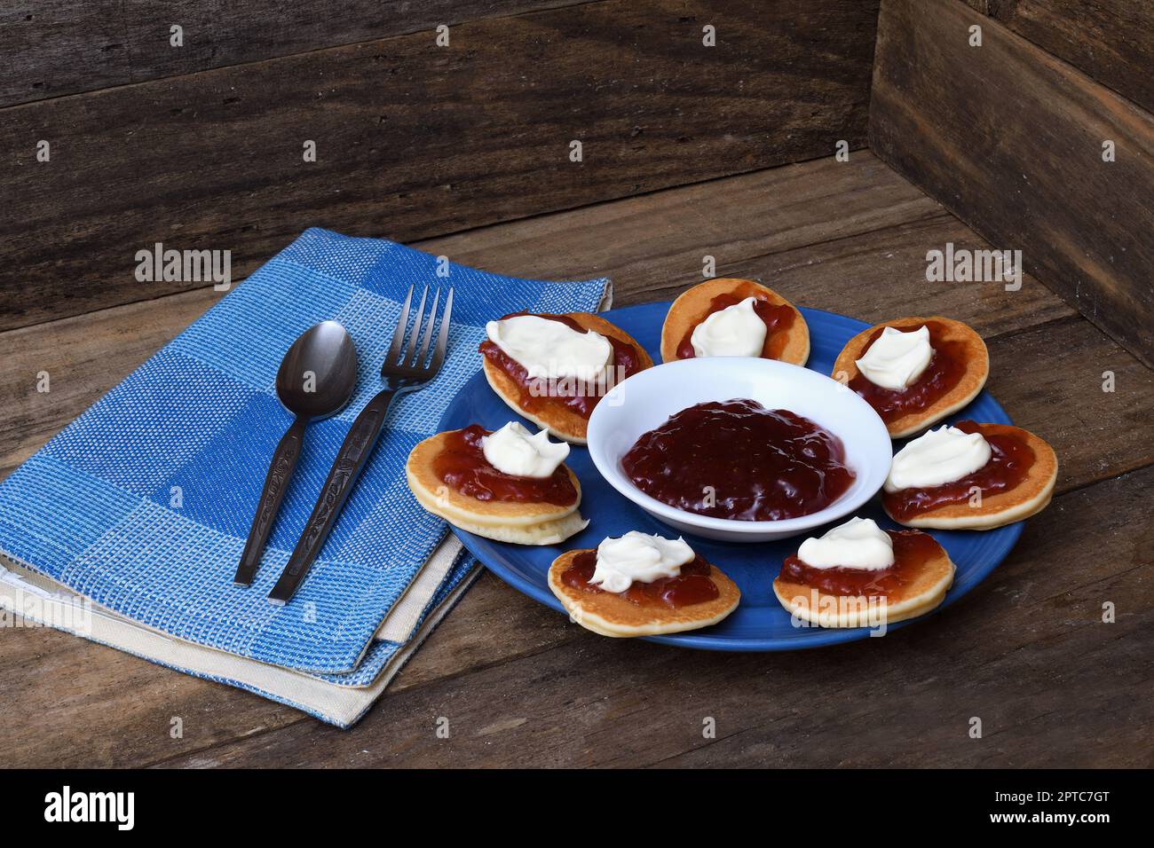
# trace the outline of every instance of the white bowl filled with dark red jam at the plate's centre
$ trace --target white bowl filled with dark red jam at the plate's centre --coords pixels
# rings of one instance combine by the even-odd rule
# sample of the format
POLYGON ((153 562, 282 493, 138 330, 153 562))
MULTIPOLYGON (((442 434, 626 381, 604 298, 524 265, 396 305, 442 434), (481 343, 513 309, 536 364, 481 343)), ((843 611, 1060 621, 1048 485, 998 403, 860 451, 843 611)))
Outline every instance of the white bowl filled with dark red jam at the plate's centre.
POLYGON ((593 410, 589 449, 622 495, 674 528, 781 539, 848 515, 885 482, 878 414, 830 377, 775 360, 650 368, 593 410))

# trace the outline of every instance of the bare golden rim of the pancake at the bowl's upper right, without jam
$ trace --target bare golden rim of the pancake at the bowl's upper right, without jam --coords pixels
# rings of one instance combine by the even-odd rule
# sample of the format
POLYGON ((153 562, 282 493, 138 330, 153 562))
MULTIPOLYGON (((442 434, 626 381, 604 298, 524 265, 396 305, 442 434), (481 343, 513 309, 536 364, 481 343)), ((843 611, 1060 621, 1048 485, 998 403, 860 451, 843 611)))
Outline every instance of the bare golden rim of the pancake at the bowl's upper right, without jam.
POLYGON ((974 332, 968 324, 964 324, 960 321, 953 321, 952 318, 943 318, 939 315, 935 315, 929 318, 894 318, 893 321, 875 324, 868 330, 862 330, 860 333, 854 336, 846 343, 846 346, 841 348, 841 353, 838 354, 838 359, 833 362, 833 372, 831 376, 839 382, 848 384, 849 381, 856 377, 860 373, 855 361, 862 358, 862 354, 867 348, 867 343, 874 332, 883 327, 893 327, 904 332, 908 332, 909 330, 916 330, 927 321, 936 321, 944 324, 945 340, 958 342, 964 346, 962 357, 965 359, 966 370, 961 375, 957 385, 930 404, 927 408, 907 413, 896 418, 893 421, 887 421, 886 429, 890 431, 891 438, 904 438, 919 433, 920 430, 924 430, 930 425, 941 421, 946 415, 953 414, 977 397, 982 387, 986 385, 986 378, 990 374, 990 355, 986 350, 986 343, 982 342, 982 337, 974 332), (844 374, 845 376, 839 377, 839 374, 844 374))

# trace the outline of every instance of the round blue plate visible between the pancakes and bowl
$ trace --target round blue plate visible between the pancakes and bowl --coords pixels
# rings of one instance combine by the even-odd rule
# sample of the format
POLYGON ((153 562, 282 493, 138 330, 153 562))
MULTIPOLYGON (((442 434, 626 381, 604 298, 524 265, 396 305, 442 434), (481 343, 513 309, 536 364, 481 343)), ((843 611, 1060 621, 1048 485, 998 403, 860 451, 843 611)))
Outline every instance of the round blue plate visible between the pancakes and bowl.
MULTIPOLYGON (((645 303, 613 309, 604 313, 604 317, 637 339, 653 360, 660 362, 661 323, 668 309, 669 303, 645 303)), ((819 309, 801 312, 809 323, 810 333, 811 348, 807 367, 822 374, 832 370, 833 361, 846 342, 869 327, 861 321, 819 309)), ((516 418, 512 410, 489 389, 485 375, 478 373, 454 399, 441 419, 440 428, 451 430, 479 423, 496 429, 516 418)), ((997 402, 984 391, 950 420, 962 418, 990 423, 1012 423, 997 402)), ((535 429, 524 419, 522 422, 535 429)), ((594 548, 606 536, 619 536, 630 530, 674 538, 679 535, 676 531, 635 506, 605 482, 584 448, 575 446, 565 463, 580 479, 580 511, 590 519, 590 525, 563 545, 542 547, 508 545, 454 528, 473 556, 497 577, 560 613, 564 610, 549 591, 546 573, 549 564, 562 551, 594 548)), ((882 511, 877 497, 857 515, 874 518, 883 527, 898 526, 882 511)), ((942 607, 957 601, 990 573, 1010 553, 1021 535, 1021 530, 1019 521, 984 532, 934 531, 934 536, 945 547, 950 558, 958 566, 953 587, 946 594, 942 607)), ((824 532, 822 528, 815 535, 824 532)), ((792 624, 789 614, 778 602, 770 584, 777 577, 781 561, 797 551, 801 539, 751 545, 719 542, 699 536, 687 536, 685 540, 694 550, 729 575, 741 587, 741 605, 729 617, 712 628, 673 636, 646 637, 650 641, 710 651, 794 651, 869 636, 870 631, 867 628, 822 629, 792 624)), ((898 628, 906 623, 908 622, 890 626, 898 628)))

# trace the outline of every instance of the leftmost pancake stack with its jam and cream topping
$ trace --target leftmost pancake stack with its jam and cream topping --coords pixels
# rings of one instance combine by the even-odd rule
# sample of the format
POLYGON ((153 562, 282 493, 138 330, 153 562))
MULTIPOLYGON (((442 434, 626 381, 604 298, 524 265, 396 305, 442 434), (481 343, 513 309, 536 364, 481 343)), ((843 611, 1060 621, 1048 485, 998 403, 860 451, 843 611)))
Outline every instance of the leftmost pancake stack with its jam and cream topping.
POLYGON ((469 533, 517 545, 555 545, 589 525, 580 482, 564 465, 569 445, 510 421, 439 433, 409 455, 405 475, 417 501, 469 533))

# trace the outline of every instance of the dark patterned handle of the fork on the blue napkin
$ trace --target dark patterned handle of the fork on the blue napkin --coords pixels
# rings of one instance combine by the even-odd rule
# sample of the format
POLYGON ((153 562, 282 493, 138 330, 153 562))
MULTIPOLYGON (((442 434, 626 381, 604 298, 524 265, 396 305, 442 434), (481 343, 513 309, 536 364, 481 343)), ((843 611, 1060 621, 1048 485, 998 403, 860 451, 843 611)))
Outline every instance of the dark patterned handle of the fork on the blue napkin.
POLYGON ((349 500, 349 494, 352 491, 357 478, 360 476, 373 453, 376 440, 381 435, 381 427, 384 425, 384 417, 388 414, 389 406, 396 395, 397 392, 392 389, 385 389, 379 393, 365 405, 352 427, 349 428, 349 435, 345 436, 340 450, 337 451, 337 458, 329 470, 329 476, 316 498, 316 505, 313 506, 313 515, 308 517, 305 531, 301 533, 292 556, 288 557, 288 564, 280 573, 280 579, 269 593, 269 600, 272 603, 278 606, 287 603, 308 575, 313 561, 321 553, 321 548, 324 547, 324 542, 332 531, 332 525, 337 523, 337 517, 340 515, 345 501, 349 500))

